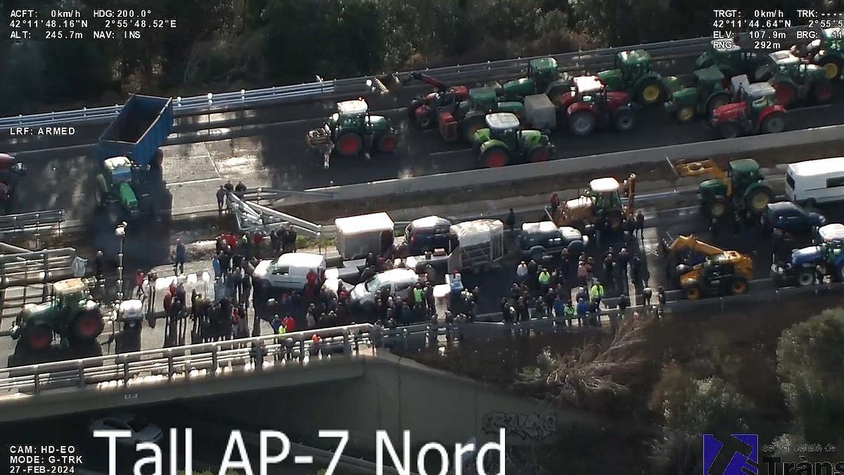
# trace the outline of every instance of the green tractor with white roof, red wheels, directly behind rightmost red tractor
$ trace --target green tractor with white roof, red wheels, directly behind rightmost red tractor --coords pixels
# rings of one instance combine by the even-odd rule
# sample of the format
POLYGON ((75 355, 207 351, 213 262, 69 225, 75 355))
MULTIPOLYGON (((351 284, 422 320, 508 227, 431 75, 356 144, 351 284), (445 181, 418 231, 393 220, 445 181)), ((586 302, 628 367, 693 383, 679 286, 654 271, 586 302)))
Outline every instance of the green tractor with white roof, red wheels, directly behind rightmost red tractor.
POLYGON ((763 78, 770 76, 768 84, 776 90, 776 101, 782 106, 809 98, 819 104, 832 101, 832 83, 826 77, 826 69, 806 63, 792 52, 769 54, 768 63, 760 74, 763 78))

